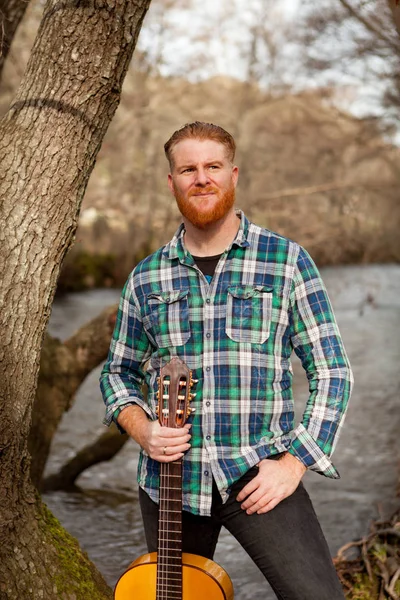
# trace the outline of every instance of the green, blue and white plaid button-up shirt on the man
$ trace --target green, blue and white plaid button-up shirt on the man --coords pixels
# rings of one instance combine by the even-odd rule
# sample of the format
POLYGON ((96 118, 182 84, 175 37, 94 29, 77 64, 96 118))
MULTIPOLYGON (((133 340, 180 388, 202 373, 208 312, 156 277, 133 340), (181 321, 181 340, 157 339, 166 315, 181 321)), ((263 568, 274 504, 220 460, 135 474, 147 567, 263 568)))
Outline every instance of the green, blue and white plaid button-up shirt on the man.
MULTIPOLYGON (((105 423, 137 404, 156 419, 160 367, 178 356, 198 379, 191 448, 183 459, 183 508, 209 515, 212 479, 222 499, 263 458, 289 451, 338 478, 330 456, 346 412, 352 373, 317 268, 298 244, 243 213, 209 284, 183 243, 144 259, 122 292, 101 375, 105 423), (292 350, 309 381, 295 426, 292 350), (148 361, 147 369, 145 363, 148 361), (148 397, 142 394, 146 381, 148 397)), ((139 485, 158 501, 159 463, 142 450, 139 485)))

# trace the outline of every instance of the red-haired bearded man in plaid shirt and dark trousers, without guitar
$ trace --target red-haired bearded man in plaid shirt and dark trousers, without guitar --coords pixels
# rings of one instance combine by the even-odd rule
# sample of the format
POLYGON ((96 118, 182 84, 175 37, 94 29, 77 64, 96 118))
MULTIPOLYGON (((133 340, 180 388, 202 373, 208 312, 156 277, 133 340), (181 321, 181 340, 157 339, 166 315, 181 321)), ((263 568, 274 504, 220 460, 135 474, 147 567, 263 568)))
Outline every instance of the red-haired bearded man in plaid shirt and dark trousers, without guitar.
POLYGON ((234 210, 229 133, 192 123, 165 152, 183 224, 130 275, 101 376, 105 422, 141 446, 149 551, 159 463, 183 457, 183 551, 212 558, 224 525, 279 599, 343 599, 301 483, 307 469, 339 477, 330 456, 352 384, 323 282, 303 248, 234 210), (310 389, 297 426, 293 349, 310 389), (198 380, 195 416, 182 429, 161 427, 155 414, 160 367, 174 356, 198 380))

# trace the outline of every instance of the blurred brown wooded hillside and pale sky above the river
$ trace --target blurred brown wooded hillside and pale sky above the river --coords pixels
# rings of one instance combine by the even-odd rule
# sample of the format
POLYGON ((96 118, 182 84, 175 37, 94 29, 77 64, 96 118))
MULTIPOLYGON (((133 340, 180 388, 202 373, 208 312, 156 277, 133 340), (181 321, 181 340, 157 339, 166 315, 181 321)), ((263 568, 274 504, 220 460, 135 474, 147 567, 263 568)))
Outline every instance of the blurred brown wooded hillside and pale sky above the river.
MULTIPOLYGON (((3 113, 42 8, 32 0, 15 37, 3 113)), ((120 286, 170 238, 163 144, 193 120, 235 137, 237 205, 255 222, 320 266, 397 262, 399 56, 385 0, 153 0, 60 291, 120 286)))

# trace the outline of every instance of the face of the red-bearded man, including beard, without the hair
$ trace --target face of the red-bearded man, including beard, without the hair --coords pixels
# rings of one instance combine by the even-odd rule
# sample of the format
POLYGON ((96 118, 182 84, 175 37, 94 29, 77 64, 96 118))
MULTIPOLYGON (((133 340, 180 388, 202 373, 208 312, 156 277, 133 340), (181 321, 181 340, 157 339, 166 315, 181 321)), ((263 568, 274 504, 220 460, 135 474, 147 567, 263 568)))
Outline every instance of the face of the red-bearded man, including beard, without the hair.
POLYGON ((168 186, 184 219, 199 229, 223 219, 235 201, 238 168, 214 140, 182 140, 172 151, 168 186))

